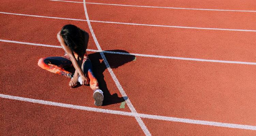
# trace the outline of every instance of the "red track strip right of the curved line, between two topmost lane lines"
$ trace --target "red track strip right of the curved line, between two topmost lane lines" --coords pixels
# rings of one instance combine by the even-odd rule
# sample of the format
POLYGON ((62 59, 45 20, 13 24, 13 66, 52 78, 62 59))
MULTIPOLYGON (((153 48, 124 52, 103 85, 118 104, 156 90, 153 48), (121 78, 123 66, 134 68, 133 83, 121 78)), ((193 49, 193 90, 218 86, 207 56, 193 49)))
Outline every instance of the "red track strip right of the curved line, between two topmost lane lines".
POLYGON ((256 30, 256 13, 251 12, 174 10, 98 4, 87 4, 87 10, 89 19, 98 21, 256 30))

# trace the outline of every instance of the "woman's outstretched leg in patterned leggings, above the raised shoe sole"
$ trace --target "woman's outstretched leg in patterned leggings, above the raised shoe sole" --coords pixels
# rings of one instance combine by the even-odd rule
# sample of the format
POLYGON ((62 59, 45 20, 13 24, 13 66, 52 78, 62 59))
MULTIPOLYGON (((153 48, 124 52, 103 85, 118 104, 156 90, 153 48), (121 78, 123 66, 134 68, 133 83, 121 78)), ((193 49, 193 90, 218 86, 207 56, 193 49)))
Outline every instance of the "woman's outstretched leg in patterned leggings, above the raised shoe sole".
POLYGON ((90 80, 90 87, 92 90, 100 89, 97 79, 92 72, 92 63, 89 58, 84 58, 82 63, 82 71, 86 74, 86 77, 90 80))

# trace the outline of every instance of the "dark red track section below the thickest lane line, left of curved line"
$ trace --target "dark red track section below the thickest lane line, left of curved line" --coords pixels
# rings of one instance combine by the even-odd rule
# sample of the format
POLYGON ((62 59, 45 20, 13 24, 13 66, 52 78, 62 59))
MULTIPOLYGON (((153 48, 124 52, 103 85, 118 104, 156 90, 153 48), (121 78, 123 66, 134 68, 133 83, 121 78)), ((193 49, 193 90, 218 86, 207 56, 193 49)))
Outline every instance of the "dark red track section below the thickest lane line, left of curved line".
MULTIPOLYGON (((136 135, 134 117, 45 106, 0 98, 1 135, 136 135)), ((139 130, 139 131, 138 131, 139 130)))

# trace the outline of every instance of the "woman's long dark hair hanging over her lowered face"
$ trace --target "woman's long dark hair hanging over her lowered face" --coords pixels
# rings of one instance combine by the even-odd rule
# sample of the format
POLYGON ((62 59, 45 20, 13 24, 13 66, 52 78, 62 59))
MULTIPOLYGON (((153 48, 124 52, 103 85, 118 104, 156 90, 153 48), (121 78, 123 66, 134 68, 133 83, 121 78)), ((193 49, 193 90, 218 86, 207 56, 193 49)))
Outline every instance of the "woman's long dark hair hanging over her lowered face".
POLYGON ((60 35, 65 41, 65 44, 72 50, 72 53, 77 53, 79 56, 85 54, 87 49, 87 43, 85 42, 85 32, 84 30, 76 27, 73 24, 66 24, 62 27, 60 35))

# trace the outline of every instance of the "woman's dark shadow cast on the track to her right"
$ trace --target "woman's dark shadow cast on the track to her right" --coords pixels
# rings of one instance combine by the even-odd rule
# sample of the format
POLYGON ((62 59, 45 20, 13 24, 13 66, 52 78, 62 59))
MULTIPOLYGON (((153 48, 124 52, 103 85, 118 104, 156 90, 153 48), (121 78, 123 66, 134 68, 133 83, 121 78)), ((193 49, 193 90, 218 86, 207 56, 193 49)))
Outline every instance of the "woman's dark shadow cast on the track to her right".
MULTIPOLYGON (((124 50, 107 50, 107 51, 129 53, 124 50)), ((110 68, 112 68, 112 69, 118 68, 118 67, 124 65, 125 63, 134 61, 136 59, 136 57, 134 55, 114 54, 114 53, 106 53, 106 52, 104 52, 104 55, 110 65, 110 68)), ((103 91, 104 100, 103 100, 102 106, 121 103, 125 99, 127 99, 127 98, 123 98, 123 97, 118 97, 117 93, 115 93, 113 95, 110 94, 110 92, 107 88, 107 84, 104 80, 104 75, 103 75, 103 72, 107 69, 107 67, 101 57, 100 52, 88 54, 88 56, 92 62, 93 73, 94 73, 97 81, 99 82, 99 87, 103 91)), ((67 69, 67 71, 73 72, 72 70, 68 70, 68 69, 67 69)), ((113 79, 111 78, 111 79, 106 79, 106 80, 113 80, 113 79)), ((79 87, 79 86, 77 86, 77 87, 79 87)))

